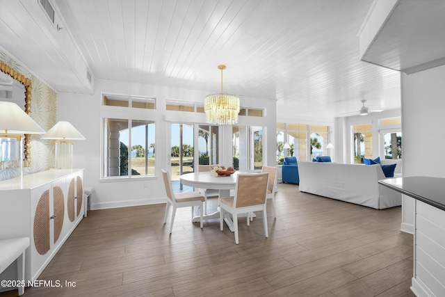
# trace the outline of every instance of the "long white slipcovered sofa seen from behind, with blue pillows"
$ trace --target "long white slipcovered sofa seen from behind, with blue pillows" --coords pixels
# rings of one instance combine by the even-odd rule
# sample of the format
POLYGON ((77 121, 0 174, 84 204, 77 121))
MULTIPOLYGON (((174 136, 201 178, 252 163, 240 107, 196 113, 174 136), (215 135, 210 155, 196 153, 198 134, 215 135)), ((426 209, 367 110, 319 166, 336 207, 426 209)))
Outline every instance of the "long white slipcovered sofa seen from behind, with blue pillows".
POLYGON ((380 165, 298 162, 298 171, 302 192, 374 209, 402 203, 401 193, 378 184, 387 179, 380 165))

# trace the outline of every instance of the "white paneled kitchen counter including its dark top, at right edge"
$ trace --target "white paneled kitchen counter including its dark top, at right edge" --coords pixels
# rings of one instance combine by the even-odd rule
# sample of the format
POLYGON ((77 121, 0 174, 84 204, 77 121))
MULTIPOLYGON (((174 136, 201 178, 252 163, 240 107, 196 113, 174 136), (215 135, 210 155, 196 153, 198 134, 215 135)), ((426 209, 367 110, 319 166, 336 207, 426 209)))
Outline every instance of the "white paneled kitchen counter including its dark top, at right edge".
POLYGON ((415 199, 411 290, 418 297, 445 296, 445 179, 401 177, 379 184, 415 199))

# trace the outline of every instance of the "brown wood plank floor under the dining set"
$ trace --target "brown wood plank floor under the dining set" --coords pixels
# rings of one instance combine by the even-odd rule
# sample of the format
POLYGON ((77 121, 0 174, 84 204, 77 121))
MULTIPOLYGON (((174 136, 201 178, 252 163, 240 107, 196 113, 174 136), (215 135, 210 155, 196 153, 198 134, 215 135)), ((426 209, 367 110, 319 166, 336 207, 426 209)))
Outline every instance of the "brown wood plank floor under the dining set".
MULTIPOLYGON (((375 210, 279 184, 277 219, 239 222, 239 245, 219 220, 191 223, 165 204, 89 211, 24 296, 414 296, 412 235, 401 207, 375 210), (65 287, 65 281, 76 287, 65 287)), ((209 199, 209 211, 217 200, 209 199)), ((17 290, 0 294, 16 296, 17 290)))

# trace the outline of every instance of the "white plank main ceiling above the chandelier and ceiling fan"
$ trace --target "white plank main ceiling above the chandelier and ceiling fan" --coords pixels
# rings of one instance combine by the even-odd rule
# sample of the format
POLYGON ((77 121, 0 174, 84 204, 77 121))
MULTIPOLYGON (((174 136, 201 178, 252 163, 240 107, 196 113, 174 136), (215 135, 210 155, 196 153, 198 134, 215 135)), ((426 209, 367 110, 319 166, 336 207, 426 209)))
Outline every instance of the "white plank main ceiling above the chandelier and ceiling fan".
MULTIPOLYGON (((225 93, 277 100, 295 115, 337 117, 358 111, 361 99, 374 109, 401 106, 399 72, 359 61, 357 33, 372 0, 52 2, 95 79, 218 93, 225 64, 225 93)), ((56 65, 53 72, 44 79, 73 92, 57 82, 56 65)))

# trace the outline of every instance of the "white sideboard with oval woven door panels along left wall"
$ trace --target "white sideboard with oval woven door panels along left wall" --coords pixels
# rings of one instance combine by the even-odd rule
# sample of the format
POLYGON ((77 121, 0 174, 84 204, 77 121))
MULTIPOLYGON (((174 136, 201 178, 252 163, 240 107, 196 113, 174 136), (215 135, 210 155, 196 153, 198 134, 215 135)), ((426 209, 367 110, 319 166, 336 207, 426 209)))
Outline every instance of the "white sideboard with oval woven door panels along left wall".
MULTIPOLYGON (((28 236, 31 241, 26 282, 38 278, 80 223, 83 203, 83 169, 51 169, 0 182, 0 239, 28 236)), ((0 279, 15 275, 12 264, 0 279)))

